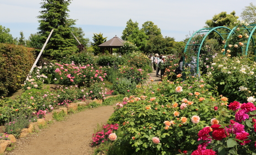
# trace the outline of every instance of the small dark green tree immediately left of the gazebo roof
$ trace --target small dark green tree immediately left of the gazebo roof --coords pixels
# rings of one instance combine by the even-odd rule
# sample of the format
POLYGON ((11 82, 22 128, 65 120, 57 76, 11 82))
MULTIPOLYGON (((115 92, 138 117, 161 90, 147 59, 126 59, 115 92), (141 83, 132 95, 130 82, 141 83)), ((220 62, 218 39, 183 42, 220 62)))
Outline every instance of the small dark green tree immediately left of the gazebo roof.
POLYGON ((99 45, 101 45, 102 43, 107 41, 107 37, 103 37, 102 33, 93 34, 92 40, 94 42, 91 43, 91 47, 94 50, 94 55, 98 55, 99 53, 101 53, 101 48, 99 47, 99 45))

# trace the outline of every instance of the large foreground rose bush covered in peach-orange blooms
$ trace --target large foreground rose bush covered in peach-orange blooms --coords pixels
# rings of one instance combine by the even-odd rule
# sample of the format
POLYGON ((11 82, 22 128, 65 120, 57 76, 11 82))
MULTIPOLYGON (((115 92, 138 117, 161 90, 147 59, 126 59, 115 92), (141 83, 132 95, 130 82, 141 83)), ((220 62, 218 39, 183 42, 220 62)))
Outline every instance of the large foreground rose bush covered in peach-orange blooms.
POLYGON ((179 149, 196 149, 197 132, 214 118, 214 106, 222 103, 222 114, 229 116, 224 107, 228 99, 209 91, 213 88, 207 79, 198 80, 189 74, 189 70, 184 71, 185 81, 180 75, 173 82, 138 87, 137 96, 124 98, 128 103, 123 107, 119 104, 109 122, 120 124, 120 137, 111 149, 129 144, 127 149, 133 148, 136 155, 148 149, 152 154, 169 155, 178 154, 179 149))

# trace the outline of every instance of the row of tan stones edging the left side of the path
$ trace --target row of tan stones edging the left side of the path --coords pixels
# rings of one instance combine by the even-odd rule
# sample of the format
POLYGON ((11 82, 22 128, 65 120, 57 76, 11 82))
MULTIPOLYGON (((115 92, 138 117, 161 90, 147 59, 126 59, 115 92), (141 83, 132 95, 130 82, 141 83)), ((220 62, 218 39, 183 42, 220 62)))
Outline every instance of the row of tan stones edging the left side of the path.
MULTIPOLYGON (((107 96, 106 99, 110 97, 116 97, 117 95, 113 96, 107 96)), ((32 133, 34 131, 38 131, 39 125, 45 125, 48 121, 53 120, 53 113, 60 113, 61 111, 64 111, 64 113, 67 115, 69 110, 77 110, 78 106, 86 106, 89 105, 91 102, 96 102, 98 104, 102 104, 103 100, 85 100, 84 102, 77 102, 77 103, 70 103, 67 108, 59 108, 59 109, 54 109, 52 113, 46 114, 43 116, 43 119, 37 119, 37 122, 32 122, 28 125, 28 128, 24 128, 21 130, 21 135, 20 137, 25 137, 27 134, 32 133)), ((8 135, 8 138, 11 140, 0 140, 0 153, 4 153, 6 148, 11 145, 11 143, 16 142, 16 138, 14 135, 8 135)))

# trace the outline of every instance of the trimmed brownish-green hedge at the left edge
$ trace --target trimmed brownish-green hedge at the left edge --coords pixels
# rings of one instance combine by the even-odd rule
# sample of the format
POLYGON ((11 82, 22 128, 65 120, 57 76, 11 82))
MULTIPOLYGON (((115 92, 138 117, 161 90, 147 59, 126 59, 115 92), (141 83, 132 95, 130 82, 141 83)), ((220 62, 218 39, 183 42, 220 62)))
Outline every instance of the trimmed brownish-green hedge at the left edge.
POLYGON ((0 44, 0 96, 21 88, 35 59, 33 48, 0 44))

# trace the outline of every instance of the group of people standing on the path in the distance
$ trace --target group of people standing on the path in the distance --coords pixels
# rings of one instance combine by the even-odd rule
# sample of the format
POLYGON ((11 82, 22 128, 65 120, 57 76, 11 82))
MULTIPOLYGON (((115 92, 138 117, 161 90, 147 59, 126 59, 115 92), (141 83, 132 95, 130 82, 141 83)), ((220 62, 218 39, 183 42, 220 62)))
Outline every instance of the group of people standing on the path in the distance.
POLYGON ((151 60, 151 67, 152 67, 152 70, 155 70, 156 76, 160 76, 162 78, 162 76, 165 73, 165 69, 161 66, 165 63, 165 56, 158 55, 158 54, 155 54, 155 55, 150 54, 149 59, 151 60), (159 75, 159 72, 160 72, 160 75, 159 75))

